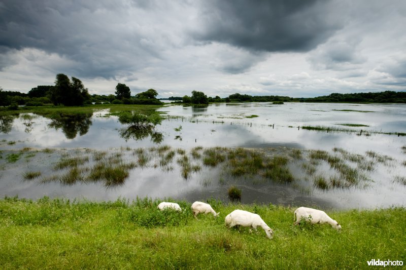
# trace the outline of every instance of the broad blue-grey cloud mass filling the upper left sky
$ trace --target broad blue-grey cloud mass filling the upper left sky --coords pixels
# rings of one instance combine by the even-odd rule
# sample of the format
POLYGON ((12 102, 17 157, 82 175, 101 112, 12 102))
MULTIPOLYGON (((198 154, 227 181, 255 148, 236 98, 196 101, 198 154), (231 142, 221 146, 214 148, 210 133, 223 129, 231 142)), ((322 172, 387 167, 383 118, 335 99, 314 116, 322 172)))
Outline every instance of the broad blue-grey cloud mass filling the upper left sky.
MULTIPOLYGON (((74 75, 115 79, 159 58, 148 31, 132 23, 133 2, 12 0, 0 6, 0 49, 35 48, 77 62, 74 75), (138 60, 138 61, 136 61, 138 60), (140 61, 142 60, 142 61, 140 61)), ((143 8, 152 4, 140 2, 143 8)), ((159 46, 158 46, 159 47, 159 46)), ((12 63, 2 61, 4 68, 12 63)))

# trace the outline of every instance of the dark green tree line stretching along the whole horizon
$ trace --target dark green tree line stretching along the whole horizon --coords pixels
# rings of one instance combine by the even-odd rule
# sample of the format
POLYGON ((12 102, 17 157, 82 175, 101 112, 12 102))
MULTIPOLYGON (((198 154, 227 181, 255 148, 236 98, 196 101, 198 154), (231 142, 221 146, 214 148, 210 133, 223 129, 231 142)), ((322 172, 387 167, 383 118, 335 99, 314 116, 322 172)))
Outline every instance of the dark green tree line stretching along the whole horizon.
MULTIPOLYGON (((214 102, 365 102, 365 103, 406 103, 405 91, 383 91, 368 93, 332 93, 328 96, 319 96, 314 98, 293 98, 288 96, 251 96, 247 94, 231 94, 226 98, 219 96, 207 97, 204 92, 192 91, 192 95, 183 97, 170 97, 166 100, 172 100, 182 104, 209 104, 214 102)), ((145 92, 137 93, 131 96, 128 86, 118 83, 115 88, 115 95, 90 95, 83 83, 75 78, 69 77, 63 73, 56 75, 53 86, 37 86, 28 93, 18 91, 3 91, 0 87, 0 106, 9 106, 17 108, 18 105, 42 106, 43 104, 77 106, 84 104, 162 104, 156 97, 157 91, 148 89, 145 92)), ((164 100, 164 99, 162 99, 164 100)))

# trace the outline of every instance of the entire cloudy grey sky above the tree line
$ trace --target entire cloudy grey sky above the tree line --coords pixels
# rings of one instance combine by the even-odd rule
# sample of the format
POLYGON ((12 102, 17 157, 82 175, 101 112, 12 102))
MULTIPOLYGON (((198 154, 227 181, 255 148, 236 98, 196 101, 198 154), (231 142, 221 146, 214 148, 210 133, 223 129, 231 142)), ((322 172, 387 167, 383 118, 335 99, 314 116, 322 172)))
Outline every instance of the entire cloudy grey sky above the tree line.
POLYGON ((314 97, 406 90, 404 0, 3 0, 0 87, 314 97))

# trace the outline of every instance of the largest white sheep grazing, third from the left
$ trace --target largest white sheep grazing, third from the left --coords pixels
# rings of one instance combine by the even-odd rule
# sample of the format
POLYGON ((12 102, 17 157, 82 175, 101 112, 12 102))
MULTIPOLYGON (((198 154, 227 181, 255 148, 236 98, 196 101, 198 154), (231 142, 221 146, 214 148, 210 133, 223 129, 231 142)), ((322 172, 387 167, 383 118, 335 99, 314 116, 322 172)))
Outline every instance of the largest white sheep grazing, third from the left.
POLYGON ((274 238, 274 231, 262 220, 258 214, 254 214, 244 210, 234 210, 225 217, 225 224, 230 228, 235 225, 242 225, 244 227, 252 227, 257 231, 260 226, 265 231, 269 239, 274 238))

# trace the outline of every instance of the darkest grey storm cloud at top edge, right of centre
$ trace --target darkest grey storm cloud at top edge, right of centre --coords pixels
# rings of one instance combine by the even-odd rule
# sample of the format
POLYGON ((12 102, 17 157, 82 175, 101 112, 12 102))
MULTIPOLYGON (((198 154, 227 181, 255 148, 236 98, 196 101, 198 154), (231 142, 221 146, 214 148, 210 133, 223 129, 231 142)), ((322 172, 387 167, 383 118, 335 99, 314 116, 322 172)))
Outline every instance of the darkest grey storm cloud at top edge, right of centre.
POLYGON ((309 51, 337 29, 328 1, 204 1, 201 27, 192 36, 253 51, 309 51))

